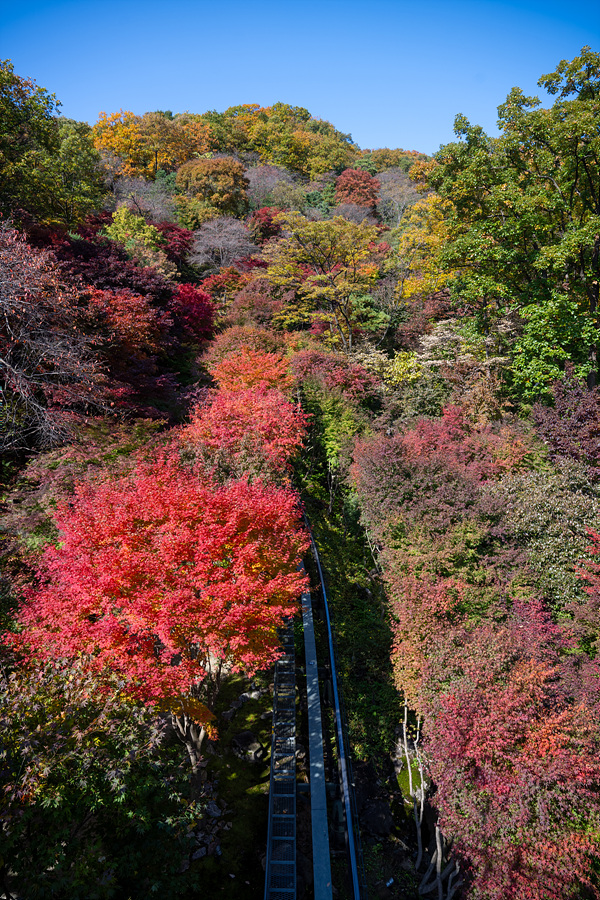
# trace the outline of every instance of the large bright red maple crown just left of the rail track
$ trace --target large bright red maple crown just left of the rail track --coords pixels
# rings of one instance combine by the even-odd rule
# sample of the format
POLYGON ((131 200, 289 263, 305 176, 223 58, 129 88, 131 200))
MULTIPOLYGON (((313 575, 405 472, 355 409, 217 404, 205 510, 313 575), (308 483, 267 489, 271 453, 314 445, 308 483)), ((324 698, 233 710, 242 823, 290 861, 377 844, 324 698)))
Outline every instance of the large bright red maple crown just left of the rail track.
POLYGON ((156 701, 275 658, 276 629, 303 584, 288 488, 216 486, 164 455, 80 486, 57 524, 61 545, 46 551, 12 639, 32 662, 83 655, 156 701))

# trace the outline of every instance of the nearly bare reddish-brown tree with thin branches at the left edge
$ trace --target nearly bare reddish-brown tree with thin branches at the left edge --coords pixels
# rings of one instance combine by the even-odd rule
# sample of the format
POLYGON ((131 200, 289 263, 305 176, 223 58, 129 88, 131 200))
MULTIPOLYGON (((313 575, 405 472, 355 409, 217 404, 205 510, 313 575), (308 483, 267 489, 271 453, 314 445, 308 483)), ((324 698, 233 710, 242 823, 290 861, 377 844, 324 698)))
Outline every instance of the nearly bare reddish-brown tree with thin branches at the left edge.
POLYGON ((51 253, 0 228, 0 449, 60 443, 101 408, 104 373, 51 253))

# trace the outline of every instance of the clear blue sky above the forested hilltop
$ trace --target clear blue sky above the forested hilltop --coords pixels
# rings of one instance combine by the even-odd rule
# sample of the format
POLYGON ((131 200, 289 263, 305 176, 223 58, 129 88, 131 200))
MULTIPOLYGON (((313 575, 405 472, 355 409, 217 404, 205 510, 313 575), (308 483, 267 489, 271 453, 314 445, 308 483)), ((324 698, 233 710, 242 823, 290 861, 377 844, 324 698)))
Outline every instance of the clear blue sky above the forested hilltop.
POLYGON ((0 58, 100 110, 305 106, 361 147, 433 153, 457 113, 496 133, 511 87, 589 44, 599 0, 0 0, 0 58))

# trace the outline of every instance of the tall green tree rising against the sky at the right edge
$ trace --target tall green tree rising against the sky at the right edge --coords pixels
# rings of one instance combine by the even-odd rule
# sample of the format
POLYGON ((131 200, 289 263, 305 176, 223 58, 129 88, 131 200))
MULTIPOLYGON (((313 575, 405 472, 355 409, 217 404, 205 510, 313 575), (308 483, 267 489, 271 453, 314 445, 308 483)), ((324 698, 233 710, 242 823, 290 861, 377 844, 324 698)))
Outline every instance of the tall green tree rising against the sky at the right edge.
POLYGON ((501 136, 458 116, 459 141, 425 167, 454 205, 443 264, 482 327, 518 312, 515 381, 544 393, 570 361, 597 378, 600 284, 600 54, 584 47, 538 84, 546 109, 514 88, 499 107, 501 136))

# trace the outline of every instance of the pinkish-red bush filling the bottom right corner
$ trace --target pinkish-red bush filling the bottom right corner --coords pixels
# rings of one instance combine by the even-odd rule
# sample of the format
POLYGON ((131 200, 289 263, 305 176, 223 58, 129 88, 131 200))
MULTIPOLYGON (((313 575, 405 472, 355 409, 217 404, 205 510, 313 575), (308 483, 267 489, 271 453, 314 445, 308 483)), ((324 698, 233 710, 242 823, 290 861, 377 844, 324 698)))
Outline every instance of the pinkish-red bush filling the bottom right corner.
POLYGON ((598 895, 597 694, 569 697, 556 639, 529 602, 501 625, 457 633, 436 661, 427 743, 470 896, 567 898, 574 884, 598 895))

